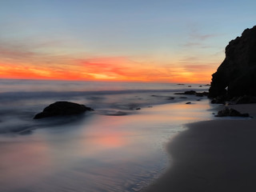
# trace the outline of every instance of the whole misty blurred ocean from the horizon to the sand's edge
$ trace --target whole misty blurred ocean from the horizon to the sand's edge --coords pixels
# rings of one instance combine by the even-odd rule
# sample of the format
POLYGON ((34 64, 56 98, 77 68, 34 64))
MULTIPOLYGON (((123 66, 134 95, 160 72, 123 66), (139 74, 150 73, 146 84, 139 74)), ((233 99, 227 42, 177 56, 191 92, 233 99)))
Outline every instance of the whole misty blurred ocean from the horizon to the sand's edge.
POLYGON ((184 124, 212 118, 207 98, 174 93, 208 89, 1 79, 0 191, 140 191, 171 166, 165 146, 184 124), (94 111, 33 119, 57 101, 94 111))

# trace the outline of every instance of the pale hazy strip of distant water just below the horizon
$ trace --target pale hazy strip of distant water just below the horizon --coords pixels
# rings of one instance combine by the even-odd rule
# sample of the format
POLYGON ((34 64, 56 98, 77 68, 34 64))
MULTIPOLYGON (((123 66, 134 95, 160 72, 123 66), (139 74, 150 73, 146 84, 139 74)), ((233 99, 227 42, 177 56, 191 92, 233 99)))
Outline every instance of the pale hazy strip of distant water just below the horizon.
MULTIPOLYGON (((48 80, 17 80, 0 79, 0 93, 4 92, 45 92, 45 91, 113 91, 113 90, 183 90, 190 84, 178 85, 174 83, 153 82, 81 82, 81 81, 48 81, 48 80)), ((205 90, 206 86, 194 89, 205 90)))

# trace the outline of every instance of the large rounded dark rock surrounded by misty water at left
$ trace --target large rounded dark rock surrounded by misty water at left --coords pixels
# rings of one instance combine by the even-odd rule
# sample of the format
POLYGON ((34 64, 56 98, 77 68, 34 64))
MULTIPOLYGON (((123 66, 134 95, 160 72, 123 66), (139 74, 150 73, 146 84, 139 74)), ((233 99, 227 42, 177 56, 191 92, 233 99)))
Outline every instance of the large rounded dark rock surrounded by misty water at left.
POLYGON ((93 110, 90 107, 80 105, 74 102, 54 102, 39 114, 36 114, 34 118, 48 118, 58 115, 73 115, 82 114, 87 110, 93 110))

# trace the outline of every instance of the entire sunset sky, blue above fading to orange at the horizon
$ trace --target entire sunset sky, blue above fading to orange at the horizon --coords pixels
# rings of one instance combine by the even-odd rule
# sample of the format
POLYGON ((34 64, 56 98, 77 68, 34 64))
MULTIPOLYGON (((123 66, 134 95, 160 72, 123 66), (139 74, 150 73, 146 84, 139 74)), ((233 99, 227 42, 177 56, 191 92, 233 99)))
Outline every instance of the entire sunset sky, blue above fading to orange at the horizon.
POLYGON ((1 0, 0 78, 209 83, 255 0, 1 0))

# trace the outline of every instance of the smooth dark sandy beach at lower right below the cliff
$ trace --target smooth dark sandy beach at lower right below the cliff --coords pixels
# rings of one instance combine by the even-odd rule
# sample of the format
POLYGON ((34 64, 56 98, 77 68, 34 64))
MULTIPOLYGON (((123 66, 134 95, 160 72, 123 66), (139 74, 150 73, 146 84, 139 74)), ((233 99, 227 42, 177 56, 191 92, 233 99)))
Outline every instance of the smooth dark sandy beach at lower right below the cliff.
POLYGON ((230 107, 254 118, 186 125, 166 146, 170 169, 144 191, 255 191, 256 105, 230 107))

